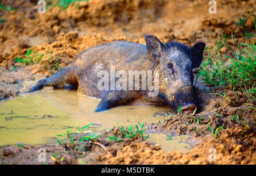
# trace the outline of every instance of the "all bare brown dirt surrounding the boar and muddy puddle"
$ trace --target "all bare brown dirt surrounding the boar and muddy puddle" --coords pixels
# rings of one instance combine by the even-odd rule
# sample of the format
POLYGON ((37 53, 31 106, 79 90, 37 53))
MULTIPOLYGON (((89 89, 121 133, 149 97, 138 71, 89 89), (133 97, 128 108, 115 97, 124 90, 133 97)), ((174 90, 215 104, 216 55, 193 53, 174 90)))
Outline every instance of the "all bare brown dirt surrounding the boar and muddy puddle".
MULTIPOLYGON (((255 0, 218 1, 217 14, 213 15, 208 13, 208 2, 203 0, 90 0, 70 5, 67 10, 50 7, 46 14, 38 14, 35 1, 3 4, 16 10, 0 11, 0 99, 15 96, 26 82, 64 68, 85 49, 114 40, 144 44, 143 34, 150 33, 164 43, 175 40, 192 45, 204 41, 210 46, 225 35, 226 47, 221 53, 228 56, 227 47, 235 49, 239 41, 255 41, 255 37, 242 35, 255 34, 249 12, 251 9, 256 16, 255 0), (244 18, 243 25, 238 24, 240 17, 244 18), (14 61, 15 57, 25 57, 28 49, 42 55, 42 60, 29 65, 14 61)), ((33 57, 38 59, 36 54, 33 57)), ((220 96, 209 94, 223 92, 225 87, 214 89, 204 85, 201 79, 198 82, 197 114, 172 115, 158 124, 147 124, 150 132, 192 135, 191 141, 197 145, 190 153, 164 153, 157 144, 141 140, 109 143, 108 133, 104 132, 98 143, 105 149, 92 141, 78 143, 77 140, 81 150, 59 144, 4 146, 0 148, 0 164, 42 164, 37 159, 40 147, 47 149, 48 164, 256 164, 255 102, 243 101, 242 95, 228 90, 229 99, 237 102, 230 104, 220 96), (210 148, 217 152, 214 162, 209 161, 210 148), (57 154, 54 161, 52 153, 57 154)))

